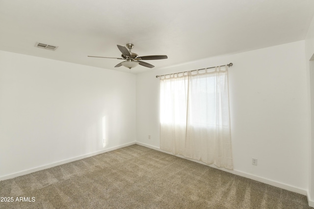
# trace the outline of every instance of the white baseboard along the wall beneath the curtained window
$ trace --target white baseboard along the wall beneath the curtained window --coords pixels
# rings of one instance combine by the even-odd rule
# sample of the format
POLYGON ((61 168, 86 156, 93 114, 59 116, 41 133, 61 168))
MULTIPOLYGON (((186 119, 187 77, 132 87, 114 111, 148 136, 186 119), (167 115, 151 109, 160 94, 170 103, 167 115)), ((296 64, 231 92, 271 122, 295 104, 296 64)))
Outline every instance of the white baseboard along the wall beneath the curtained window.
MULTIPOLYGON (((138 142, 138 141, 136 141, 136 144, 141 145, 141 146, 145 146, 145 147, 148 147, 148 148, 160 151, 160 152, 164 152, 164 153, 167 153, 167 154, 170 154, 170 155, 174 155, 173 153, 165 151, 165 150, 162 150, 159 147, 155 147, 155 146, 148 145, 148 144, 145 144, 145 143, 141 143, 141 142, 138 142)), ((245 177, 245 178, 248 178, 248 179, 252 179, 252 180, 255 180, 255 181, 258 181, 258 182, 262 182, 262 183, 270 185, 270 186, 276 186, 278 188, 282 188, 282 189, 286 189, 288 191, 292 191, 292 192, 295 192, 295 193, 306 195, 306 196, 308 196, 308 199, 309 199, 308 191, 304 190, 302 188, 298 188, 298 187, 295 187, 295 186, 290 186, 290 185, 283 184, 283 183, 280 183, 280 182, 272 181, 270 179, 265 179, 265 178, 262 178, 262 177, 259 177, 259 176, 255 176, 255 175, 252 175, 252 174, 249 174, 249 173, 245 173, 245 172, 242 172, 242 171, 239 171, 239 170, 228 170, 226 168, 217 167, 217 166, 212 165, 212 164, 209 165, 209 164, 197 161, 197 160, 185 158, 182 155, 175 155, 175 156, 183 158, 183 159, 186 159, 186 160, 189 160, 189 161, 193 161, 193 162, 196 162, 196 163, 201 163, 201 164, 204 164, 204 165, 208 165, 210 167, 213 167, 213 168, 216 168, 216 169, 219 169, 219 170, 223 170, 223 171, 226 171, 226 172, 229 172, 229 173, 233 173, 235 175, 242 176, 242 177, 245 177)), ((312 202, 312 204, 313 204, 313 201, 309 200, 309 204, 310 204, 310 202, 312 202)))

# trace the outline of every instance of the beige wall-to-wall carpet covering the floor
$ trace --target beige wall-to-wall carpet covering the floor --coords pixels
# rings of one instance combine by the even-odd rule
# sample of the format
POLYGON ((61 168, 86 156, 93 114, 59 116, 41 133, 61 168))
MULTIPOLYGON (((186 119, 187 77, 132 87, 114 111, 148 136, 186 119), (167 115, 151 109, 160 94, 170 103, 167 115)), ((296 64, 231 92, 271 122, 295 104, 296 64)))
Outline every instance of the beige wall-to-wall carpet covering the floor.
POLYGON ((139 145, 1 181, 0 197, 14 199, 1 209, 310 208, 304 195, 139 145))

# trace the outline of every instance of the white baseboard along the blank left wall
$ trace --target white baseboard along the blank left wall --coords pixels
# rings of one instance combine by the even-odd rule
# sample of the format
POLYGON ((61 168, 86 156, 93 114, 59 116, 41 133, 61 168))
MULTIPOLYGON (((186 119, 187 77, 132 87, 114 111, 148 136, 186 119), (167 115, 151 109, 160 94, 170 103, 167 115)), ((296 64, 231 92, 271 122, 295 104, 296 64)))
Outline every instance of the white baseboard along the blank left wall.
POLYGON ((23 175, 26 175, 26 174, 29 174, 29 173, 33 173, 33 172, 36 172, 36 171, 39 171, 39 170, 44 170, 44 169, 47 169, 47 168, 51 168, 51 167, 54 167, 54 166, 57 166, 57 165, 61 165, 61 164, 65 164, 65 163, 71 163, 73 161, 78 161, 78 160, 81 160, 81 159, 84 159, 84 158, 88 158, 88 157, 92 157, 92 156, 95 156, 95 155, 103 154, 105 152, 109 152, 109 151, 112 151, 112 150, 120 149, 120 148, 123 148, 123 147, 126 147, 126 146, 130 146, 130 145, 133 145, 133 144, 135 144, 135 141, 134 142, 130 142, 130 143, 126 143, 126 144, 122 144, 122 145, 119 145, 119 146, 107 148, 107 149, 104 149, 104 150, 101 150, 101 151, 89 153, 89 154, 86 154, 86 155, 81 155, 81 156, 78 156, 78 157, 75 157, 75 158, 70 158, 70 159, 67 159, 67 160, 64 160, 64 161, 59 161, 59 162, 56 162, 56 163, 51 163, 51 164, 48 164, 48 165, 44 165, 44 166, 39 166, 39 167, 23 170, 23 171, 20 171, 20 172, 17 172, 17 173, 12 173, 12 174, 9 174, 9 175, 6 175, 6 176, 1 176, 0 177, 0 181, 6 180, 6 179, 12 179, 12 178, 15 178, 15 177, 18 177, 18 176, 23 176, 23 175))

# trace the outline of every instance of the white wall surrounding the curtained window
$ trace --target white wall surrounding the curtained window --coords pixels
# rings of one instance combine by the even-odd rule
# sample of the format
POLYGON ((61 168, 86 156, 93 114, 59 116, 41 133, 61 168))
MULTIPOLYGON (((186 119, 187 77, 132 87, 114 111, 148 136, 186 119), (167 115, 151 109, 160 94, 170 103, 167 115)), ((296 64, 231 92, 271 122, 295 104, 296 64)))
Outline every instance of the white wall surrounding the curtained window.
POLYGON ((304 41, 138 74, 136 140, 159 147, 156 75, 230 62, 234 64, 229 70, 229 89, 235 170, 307 190, 310 113, 304 41), (258 166, 252 165, 252 158, 258 159, 258 166))

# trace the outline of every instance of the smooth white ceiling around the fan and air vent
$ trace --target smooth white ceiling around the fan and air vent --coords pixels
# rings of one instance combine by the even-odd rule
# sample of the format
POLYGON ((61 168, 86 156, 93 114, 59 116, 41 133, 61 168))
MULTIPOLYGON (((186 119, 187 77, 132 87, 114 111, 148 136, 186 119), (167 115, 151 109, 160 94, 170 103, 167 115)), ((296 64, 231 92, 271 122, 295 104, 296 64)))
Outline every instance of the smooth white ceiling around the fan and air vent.
POLYGON ((132 43, 168 55, 146 61, 166 68, 304 40, 313 15, 314 0, 0 0, 0 50, 129 72, 87 55, 120 57, 116 45, 132 43))

